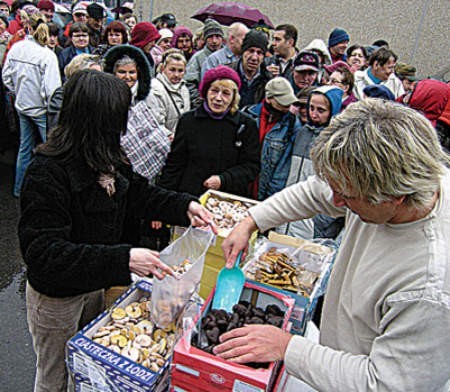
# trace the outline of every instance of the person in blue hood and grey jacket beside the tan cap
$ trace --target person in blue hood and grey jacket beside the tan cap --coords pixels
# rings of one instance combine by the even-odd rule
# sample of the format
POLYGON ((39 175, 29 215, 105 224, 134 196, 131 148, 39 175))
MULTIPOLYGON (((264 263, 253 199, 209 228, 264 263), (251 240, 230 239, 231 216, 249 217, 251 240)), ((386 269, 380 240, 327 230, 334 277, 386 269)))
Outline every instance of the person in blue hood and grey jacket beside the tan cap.
MULTIPOLYGON (((339 114, 342 105, 342 95, 343 91, 336 86, 320 86, 312 91, 308 99, 308 122, 300 129, 295 139, 286 187, 305 181, 309 176, 315 174, 310 158, 311 148, 320 132, 328 126, 334 116, 339 114), (324 109, 325 111, 323 111, 324 109)), ((326 215, 318 215, 312 219, 304 219, 282 225, 277 228, 277 231, 305 239, 315 237, 330 238, 336 234, 330 233, 331 231, 336 231, 332 230, 333 226, 341 226, 337 222, 334 224, 334 221, 333 218, 326 215), (328 232, 327 230, 319 232, 319 229, 324 228, 329 229, 328 232), (325 234, 328 236, 324 236, 325 234)))

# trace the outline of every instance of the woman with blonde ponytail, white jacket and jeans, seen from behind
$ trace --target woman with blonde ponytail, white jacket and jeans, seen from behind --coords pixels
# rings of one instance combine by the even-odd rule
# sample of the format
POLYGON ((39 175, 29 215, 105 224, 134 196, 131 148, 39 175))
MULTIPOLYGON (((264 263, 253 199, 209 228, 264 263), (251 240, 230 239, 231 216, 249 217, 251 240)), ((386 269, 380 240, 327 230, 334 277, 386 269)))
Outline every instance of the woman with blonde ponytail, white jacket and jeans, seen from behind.
POLYGON ((50 35, 45 16, 30 16, 29 34, 15 43, 3 67, 3 83, 16 97, 20 147, 17 154, 14 196, 20 196, 25 170, 37 144, 47 140, 47 103, 61 86, 58 59, 46 45, 50 35))

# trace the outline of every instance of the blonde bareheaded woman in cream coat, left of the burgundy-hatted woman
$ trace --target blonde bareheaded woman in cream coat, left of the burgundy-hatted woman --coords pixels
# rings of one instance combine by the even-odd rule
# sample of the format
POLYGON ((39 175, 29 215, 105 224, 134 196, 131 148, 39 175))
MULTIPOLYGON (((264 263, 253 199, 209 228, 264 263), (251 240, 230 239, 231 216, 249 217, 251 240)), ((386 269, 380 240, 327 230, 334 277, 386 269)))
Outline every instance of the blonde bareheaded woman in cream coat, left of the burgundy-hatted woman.
POLYGON ((183 76, 186 72, 186 58, 178 49, 169 49, 164 53, 159 72, 152 79, 152 93, 155 96, 159 111, 158 122, 175 133, 181 115, 191 108, 189 90, 183 76))

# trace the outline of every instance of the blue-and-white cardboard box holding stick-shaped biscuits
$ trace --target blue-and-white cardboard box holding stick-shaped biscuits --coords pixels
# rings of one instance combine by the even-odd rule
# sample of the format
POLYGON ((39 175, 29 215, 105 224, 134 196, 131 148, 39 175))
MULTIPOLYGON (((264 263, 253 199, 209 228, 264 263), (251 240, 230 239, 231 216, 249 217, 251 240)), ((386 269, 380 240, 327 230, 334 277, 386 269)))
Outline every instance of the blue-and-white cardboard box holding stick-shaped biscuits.
MULTIPOLYGON (((314 315, 319 297, 326 290, 328 279, 331 274, 331 268, 336 256, 336 251, 329 247, 323 247, 323 245, 319 245, 318 247, 318 244, 312 243, 311 241, 303 240, 301 238, 289 237, 275 232, 269 233, 269 241, 269 244, 275 248, 291 248, 292 250, 295 250, 296 248, 302 247, 302 249, 305 249, 305 254, 302 256, 306 258, 318 257, 323 263, 320 276, 315 282, 313 291, 311 292, 309 297, 297 294, 293 291, 282 290, 280 288, 270 286, 266 283, 260 283, 252 280, 252 282, 254 282, 258 286, 270 287, 272 290, 287 295, 295 300, 295 306, 291 314, 291 319, 289 320, 292 323, 290 332, 298 335, 303 335, 305 332, 306 323, 311 320, 314 315), (321 247, 327 249, 321 249, 321 247)), ((247 263, 242 268, 247 279, 249 278, 247 271, 249 270, 249 268, 251 268, 252 264, 255 261, 255 259, 252 260, 251 258, 247 258, 247 263)))

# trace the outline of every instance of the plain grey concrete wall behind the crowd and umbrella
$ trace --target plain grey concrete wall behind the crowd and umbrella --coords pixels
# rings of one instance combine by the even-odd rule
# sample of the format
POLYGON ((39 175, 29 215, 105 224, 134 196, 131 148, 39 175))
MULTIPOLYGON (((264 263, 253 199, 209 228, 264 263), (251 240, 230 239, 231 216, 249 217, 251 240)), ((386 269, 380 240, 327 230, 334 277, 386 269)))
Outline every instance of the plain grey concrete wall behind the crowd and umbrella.
MULTIPOLYGON (((417 67, 427 77, 450 65, 449 0, 249 0, 242 1, 268 15, 276 26, 291 23, 299 30, 298 47, 314 38, 327 42, 334 27, 350 34, 350 44, 368 45, 385 39, 399 60, 417 67)), ((135 0, 135 11, 143 20, 173 12, 184 25, 196 29, 202 24, 190 17, 211 1, 135 0)), ((450 79, 447 73, 447 80, 450 79)))

